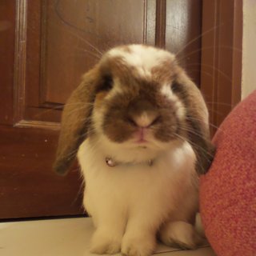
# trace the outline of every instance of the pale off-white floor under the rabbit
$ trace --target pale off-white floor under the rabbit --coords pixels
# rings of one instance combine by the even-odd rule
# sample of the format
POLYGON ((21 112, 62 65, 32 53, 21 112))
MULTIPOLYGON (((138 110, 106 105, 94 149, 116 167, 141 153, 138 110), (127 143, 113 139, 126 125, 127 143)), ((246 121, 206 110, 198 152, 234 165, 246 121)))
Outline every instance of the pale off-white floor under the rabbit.
MULTIPOLYGON (((94 226, 90 218, 0 223, 1 256, 90 256, 94 226)), ((207 246, 177 250, 158 245, 163 256, 215 256, 207 246)))

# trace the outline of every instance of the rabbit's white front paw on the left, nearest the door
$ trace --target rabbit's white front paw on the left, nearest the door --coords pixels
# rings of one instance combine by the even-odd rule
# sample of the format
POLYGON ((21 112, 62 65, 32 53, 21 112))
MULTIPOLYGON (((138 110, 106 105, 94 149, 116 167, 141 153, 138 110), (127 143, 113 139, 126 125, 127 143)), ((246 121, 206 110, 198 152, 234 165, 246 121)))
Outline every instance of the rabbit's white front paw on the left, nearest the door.
POLYGON ((96 231, 92 238, 90 252, 93 254, 117 254, 121 250, 122 237, 96 231))

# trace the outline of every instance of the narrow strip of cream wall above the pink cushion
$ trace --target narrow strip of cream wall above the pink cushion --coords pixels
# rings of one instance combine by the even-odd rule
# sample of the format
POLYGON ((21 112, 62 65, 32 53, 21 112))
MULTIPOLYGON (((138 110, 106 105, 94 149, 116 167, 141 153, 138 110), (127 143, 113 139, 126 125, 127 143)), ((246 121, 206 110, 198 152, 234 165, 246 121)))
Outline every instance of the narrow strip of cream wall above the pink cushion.
POLYGON ((242 98, 256 89, 256 0, 243 0, 242 98))

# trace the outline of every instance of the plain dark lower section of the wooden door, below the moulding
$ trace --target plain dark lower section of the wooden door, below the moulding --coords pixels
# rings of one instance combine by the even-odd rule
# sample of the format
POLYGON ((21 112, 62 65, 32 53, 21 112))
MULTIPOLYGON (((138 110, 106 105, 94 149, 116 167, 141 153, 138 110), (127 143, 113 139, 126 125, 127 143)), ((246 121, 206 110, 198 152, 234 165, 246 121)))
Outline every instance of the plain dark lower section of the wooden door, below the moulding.
POLYGON ((0 218, 82 213, 81 178, 51 171, 56 131, 0 126, 0 218))

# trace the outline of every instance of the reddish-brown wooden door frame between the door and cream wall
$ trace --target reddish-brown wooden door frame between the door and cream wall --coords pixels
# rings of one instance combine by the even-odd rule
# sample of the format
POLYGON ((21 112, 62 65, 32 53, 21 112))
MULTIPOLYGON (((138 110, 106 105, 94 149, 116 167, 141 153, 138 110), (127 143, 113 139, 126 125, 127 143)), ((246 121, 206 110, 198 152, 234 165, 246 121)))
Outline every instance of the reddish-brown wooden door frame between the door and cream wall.
POLYGON ((211 133, 241 101, 242 0, 202 0, 201 90, 211 133))

